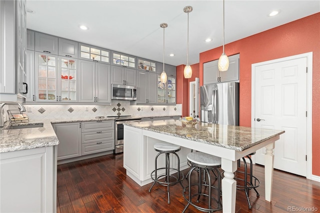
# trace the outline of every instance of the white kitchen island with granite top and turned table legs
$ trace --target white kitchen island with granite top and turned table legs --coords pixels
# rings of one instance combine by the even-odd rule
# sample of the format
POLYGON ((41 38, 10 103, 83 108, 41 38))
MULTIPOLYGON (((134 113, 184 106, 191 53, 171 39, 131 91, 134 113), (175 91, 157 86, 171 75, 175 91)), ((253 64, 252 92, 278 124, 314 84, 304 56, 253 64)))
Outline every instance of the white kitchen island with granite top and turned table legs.
POLYGON ((236 181, 233 172, 237 169, 237 159, 266 147, 265 199, 270 201, 274 142, 282 133, 284 133, 283 130, 203 122, 186 127, 178 120, 126 123, 124 124, 123 167, 126 169, 126 174, 139 185, 151 182, 149 173, 154 169, 153 162, 156 154, 155 151, 152 152, 152 149, 153 144, 159 141, 181 146, 180 153, 177 152, 180 157, 180 169, 185 168, 185 156, 190 149, 219 156, 221 157, 221 168, 224 170, 223 212, 235 212, 236 181))

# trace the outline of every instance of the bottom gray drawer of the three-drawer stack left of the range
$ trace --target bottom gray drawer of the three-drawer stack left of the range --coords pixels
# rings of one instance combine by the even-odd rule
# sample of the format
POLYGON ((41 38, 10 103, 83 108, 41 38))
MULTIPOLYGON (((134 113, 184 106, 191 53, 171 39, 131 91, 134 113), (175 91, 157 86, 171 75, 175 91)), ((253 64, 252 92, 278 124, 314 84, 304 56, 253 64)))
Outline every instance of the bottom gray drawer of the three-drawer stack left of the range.
POLYGON ((114 140, 104 140, 82 144, 82 155, 114 149, 114 140))

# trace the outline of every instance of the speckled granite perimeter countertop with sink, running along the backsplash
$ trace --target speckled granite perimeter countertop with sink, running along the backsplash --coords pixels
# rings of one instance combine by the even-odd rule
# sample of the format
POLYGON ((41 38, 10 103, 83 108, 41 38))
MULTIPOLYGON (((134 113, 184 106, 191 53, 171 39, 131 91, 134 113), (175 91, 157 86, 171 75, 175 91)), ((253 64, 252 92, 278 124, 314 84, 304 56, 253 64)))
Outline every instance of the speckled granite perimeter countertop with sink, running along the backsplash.
MULTIPOLYGON (((163 117, 153 116, 153 117, 163 117)), ((165 115, 165 116, 179 116, 179 115, 165 115)), ((151 117, 151 116, 145 116, 151 117)), ((132 116, 131 118, 145 118, 142 116, 132 116)), ((50 120, 30 120, 28 124, 43 123, 43 127, 30 127, 7 129, 9 122, 4 123, 4 127, 0 127, 0 153, 8 151, 17 151, 30 148, 38 148, 44 146, 51 146, 59 144, 59 140, 53 130, 51 123, 65 123, 65 122, 82 122, 82 121, 96 121, 96 120, 114 120, 115 117, 104 118, 66 118, 66 119, 50 119, 50 120)), ((25 123, 24 123, 25 124, 25 123)), ((23 125, 14 124, 14 125, 23 125)))

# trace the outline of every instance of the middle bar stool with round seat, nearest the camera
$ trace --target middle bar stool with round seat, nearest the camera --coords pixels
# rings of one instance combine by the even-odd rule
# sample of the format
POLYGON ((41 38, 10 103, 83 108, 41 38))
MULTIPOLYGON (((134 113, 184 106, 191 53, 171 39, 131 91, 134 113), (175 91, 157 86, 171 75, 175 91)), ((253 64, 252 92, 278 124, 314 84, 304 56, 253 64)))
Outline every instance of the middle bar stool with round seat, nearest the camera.
POLYGON ((217 210, 221 210, 222 209, 222 203, 221 203, 221 173, 219 171, 219 167, 221 167, 221 158, 217 157, 217 156, 213 156, 207 153, 203 153, 200 151, 195 151, 195 152, 190 152, 187 154, 186 158, 188 159, 188 162, 191 163, 191 168, 189 171, 189 176, 188 176, 188 186, 183 188, 183 197, 184 199, 188 202, 183 211, 184 212, 187 207, 189 206, 189 204, 191 204, 193 207, 195 207, 196 209, 200 210, 200 211, 208 211, 208 212, 213 212, 213 211, 217 211, 217 210), (193 170, 198 169, 198 183, 191 183, 191 174, 193 170), (207 183, 203 183, 201 180, 201 169, 204 170, 204 175, 207 174, 208 177, 208 182, 207 183), (217 181, 218 181, 218 185, 217 187, 211 185, 211 176, 210 176, 210 170, 215 170, 217 172, 217 181), (197 193, 191 194, 191 186, 193 185, 197 185, 198 186, 198 190, 197 193), (202 193, 202 186, 207 186, 208 188, 208 193, 202 193), (185 193, 186 189, 188 189, 188 193, 185 193), (216 189, 217 190, 217 196, 216 198, 211 196, 212 189, 216 189), (196 202, 199 202, 200 196, 204 195, 208 197, 208 207, 201 207, 199 205, 195 204, 195 201, 192 201, 192 198, 197 196, 196 202), (212 208, 211 205, 211 201, 214 200, 216 202, 216 207, 212 208))

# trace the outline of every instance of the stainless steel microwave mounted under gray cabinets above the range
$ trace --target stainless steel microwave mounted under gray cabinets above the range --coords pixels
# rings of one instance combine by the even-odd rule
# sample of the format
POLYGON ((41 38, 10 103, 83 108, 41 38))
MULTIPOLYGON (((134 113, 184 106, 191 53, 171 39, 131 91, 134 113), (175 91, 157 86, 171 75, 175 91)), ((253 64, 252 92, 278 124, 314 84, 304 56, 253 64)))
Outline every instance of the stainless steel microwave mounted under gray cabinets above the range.
POLYGON ((136 87, 129 85, 112 84, 112 99, 136 100, 136 87))

